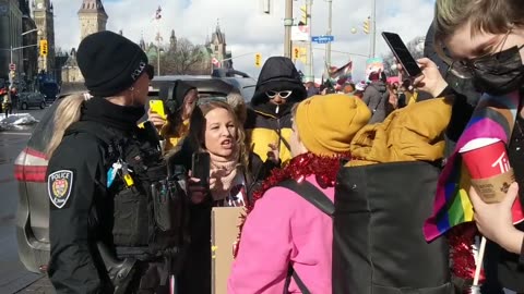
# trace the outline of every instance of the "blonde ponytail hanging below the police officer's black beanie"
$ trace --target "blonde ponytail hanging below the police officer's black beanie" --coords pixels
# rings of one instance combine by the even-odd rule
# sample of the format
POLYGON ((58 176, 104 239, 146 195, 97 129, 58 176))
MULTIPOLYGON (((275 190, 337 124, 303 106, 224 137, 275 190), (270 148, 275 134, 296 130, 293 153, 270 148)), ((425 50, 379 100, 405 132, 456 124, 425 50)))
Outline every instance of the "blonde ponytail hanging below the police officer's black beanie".
POLYGON ((53 119, 53 132, 46 147, 47 158, 51 158, 60 142, 62 142, 66 130, 80 120, 82 105, 90 96, 74 94, 63 98, 57 107, 53 119))

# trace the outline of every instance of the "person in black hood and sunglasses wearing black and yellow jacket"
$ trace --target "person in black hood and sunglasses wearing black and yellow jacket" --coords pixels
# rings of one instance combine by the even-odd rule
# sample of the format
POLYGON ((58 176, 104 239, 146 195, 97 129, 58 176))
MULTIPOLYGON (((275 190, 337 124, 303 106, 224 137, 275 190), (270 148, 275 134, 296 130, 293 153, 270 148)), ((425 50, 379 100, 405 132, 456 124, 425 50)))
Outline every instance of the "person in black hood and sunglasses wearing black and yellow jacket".
POLYGON ((291 108, 307 96, 300 74, 290 59, 267 59, 260 72, 246 122, 248 146, 262 161, 270 158, 286 163, 291 159, 291 108))

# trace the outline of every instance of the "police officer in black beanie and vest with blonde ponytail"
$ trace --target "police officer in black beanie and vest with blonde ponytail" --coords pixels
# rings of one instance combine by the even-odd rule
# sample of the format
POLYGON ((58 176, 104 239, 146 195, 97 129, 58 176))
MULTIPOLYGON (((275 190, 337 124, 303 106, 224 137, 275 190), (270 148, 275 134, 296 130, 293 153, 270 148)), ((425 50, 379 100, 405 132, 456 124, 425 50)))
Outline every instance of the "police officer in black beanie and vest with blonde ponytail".
POLYGON ((136 126, 153 68, 111 32, 76 57, 90 95, 60 101, 47 147, 49 278, 57 293, 162 293, 183 235, 156 133, 136 126))

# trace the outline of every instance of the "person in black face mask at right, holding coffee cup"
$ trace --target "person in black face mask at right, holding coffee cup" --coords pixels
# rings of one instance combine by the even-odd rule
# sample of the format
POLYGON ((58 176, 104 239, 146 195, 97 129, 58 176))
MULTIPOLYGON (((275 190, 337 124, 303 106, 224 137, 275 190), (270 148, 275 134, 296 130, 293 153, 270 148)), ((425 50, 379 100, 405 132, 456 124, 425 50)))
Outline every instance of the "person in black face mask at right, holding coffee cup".
MULTIPOLYGON (((437 0, 434 19, 436 48, 450 65, 449 73, 455 81, 472 83, 478 93, 505 95, 520 91, 524 86, 524 7, 515 0, 437 0), (451 58, 443 53, 446 49, 451 58)), ((434 62, 418 60, 424 76, 415 81, 419 89, 433 96, 449 93, 449 85, 434 62)), ((508 152, 519 186, 524 184, 524 119, 517 109, 508 152)), ((467 118, 467 113, 463 113, 467 118)), ((513 186, 508 198, 515 197, 513 186)), ((513 226, 503 221, 511 205, 486 205, 472 193, 475 219, 488 242, 485 256, 485 293, 502 293, 502 287, 524 292, 524 226, 513 226), (498 213, 493 213, 498 211, 498 213), (492 234, 492 232, 498 232, 492 234), (508 233, 504 233, 508 232, 508 233), (508 240, 510 238, 510 240, 508 240), (515 250, 521 244, 521 250, 515 250)), ((511 199, 508 199, 510 201, 511 199)), ((523 200, 519 193, 517 200, 523 200)))

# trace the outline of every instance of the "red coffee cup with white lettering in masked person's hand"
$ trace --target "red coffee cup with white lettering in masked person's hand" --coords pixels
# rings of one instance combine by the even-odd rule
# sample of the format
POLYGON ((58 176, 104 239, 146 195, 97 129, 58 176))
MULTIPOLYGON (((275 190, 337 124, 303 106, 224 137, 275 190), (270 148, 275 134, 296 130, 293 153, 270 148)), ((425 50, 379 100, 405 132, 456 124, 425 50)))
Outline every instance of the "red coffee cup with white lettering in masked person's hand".
MULTIPOLYGON (((462 151, 464 164, 472 179, 489 179, 511 171, 505 144, 501 140, 479 140, 477 146, 462 151), (484 146, 483 146, 484 145, 484 146)), ((523 187, 524 188, 524 187, 523 187)), ((524 221, 521 201, 515 199, 511 209, 513 223, 524 221)))

